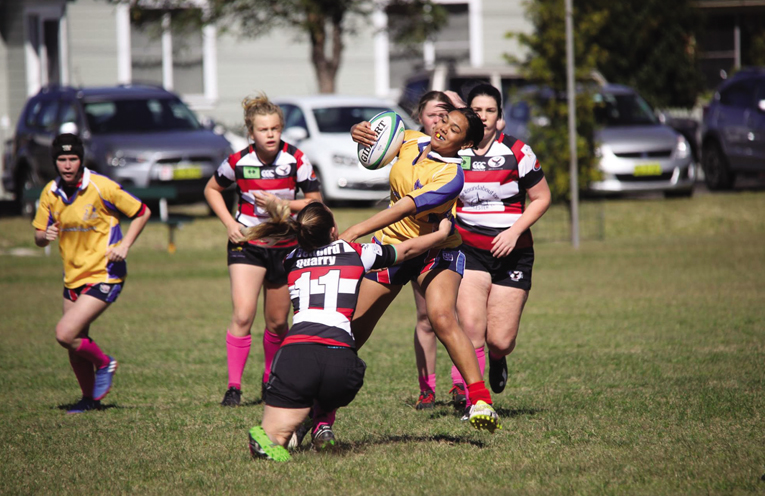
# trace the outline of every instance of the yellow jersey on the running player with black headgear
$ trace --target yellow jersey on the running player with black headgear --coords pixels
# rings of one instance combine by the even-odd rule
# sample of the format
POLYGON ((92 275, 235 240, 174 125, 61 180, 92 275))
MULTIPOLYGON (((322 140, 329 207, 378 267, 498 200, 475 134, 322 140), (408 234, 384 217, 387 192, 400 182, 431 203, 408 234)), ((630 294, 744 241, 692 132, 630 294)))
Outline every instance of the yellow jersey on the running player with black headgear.
POLYGON ((119 184, 87 168, 71 198, 60 181, 54 179, 43 188, 32 225, 44 231, 54 222, 59 223, 64 286, 74 289, 84 284, 123 282, 127 264, 110 262, 106 250, 122 241, 120 213, 134 217, 143 203, 119 184))

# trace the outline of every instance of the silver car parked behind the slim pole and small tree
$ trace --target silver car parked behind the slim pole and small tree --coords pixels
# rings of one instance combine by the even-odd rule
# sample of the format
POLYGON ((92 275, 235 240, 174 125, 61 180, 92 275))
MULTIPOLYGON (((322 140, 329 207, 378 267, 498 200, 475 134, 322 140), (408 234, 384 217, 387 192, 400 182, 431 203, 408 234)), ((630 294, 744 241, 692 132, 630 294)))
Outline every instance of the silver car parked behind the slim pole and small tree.
MULTIPOLYGON (((540 98, 552 98, 536 87, 520 92, 505 107, 505 133, 527 140, 529 122, 546 125, 539 114, 540 98)), ((565 98, 565 96, 564 96, 565 98)), ((595 136, 602 179, 590 184, 593 193, 662 191, 667 196, 690 196, 696 180, 691 145, 676 130, 663 125, 648 103, 632 88, 604 84, 593 93, 595 136)), ((533 147, 534 144, 531 143, 533 147)))

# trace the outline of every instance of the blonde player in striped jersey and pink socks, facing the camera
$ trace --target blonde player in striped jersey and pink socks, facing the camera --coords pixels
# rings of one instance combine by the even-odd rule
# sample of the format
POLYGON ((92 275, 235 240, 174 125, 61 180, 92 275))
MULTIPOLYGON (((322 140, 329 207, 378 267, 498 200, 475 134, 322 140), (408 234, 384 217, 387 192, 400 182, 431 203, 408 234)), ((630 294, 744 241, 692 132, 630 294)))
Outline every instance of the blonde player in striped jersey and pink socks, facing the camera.
POLYGON ((278 105, 261 94, 242 102, 247 132, 253 143, 225 160, 205 187, 205 198, 228 232, 228 267, 234 314, 226 333, 228 390, 221 403, 239 405, 244 366, 250 353, 250 328, 255 319, 258 296, 265 288, 263 331, 265 372, 268 381, 271 360, 287 332, 289 291, 282 261, 295 246, 294 238, 277 243, 267 240, 245 242, 241 229, 269 220, 265 204, 270 199, 289 202, 292 213, 313 201, 321 201, 319 181, 308 158, 281 140, 284 116, 278 105), (236 184, 239 207, 233 217, 223 200, 223 191, 236 184), (296 199, 297 190, 305 198, 296 199))

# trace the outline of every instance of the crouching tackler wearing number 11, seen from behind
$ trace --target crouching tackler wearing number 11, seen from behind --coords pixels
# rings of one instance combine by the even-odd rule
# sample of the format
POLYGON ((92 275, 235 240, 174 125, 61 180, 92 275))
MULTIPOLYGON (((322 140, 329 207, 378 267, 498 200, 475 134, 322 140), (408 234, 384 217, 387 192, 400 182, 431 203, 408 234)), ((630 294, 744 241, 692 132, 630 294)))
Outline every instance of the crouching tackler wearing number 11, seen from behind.
MULTIPOLYGON (((284 261, 294 316, 273 361, 263 422, 250 430, 250 449, 254 457, 286 461, 284 447, 309 409, 316 419, 346 406, 363 384, 366 365, 356 355, 351 320, 364 275, 442 243, 452 223, 444 219, 436 232, 397 245, 359 244, 338 239, 334 216, 321 203, 305 207, 295 221, 279 213, 278 201, 268 207, 275 222, 247 236, 296 234, 299 247, 284 261)), ((312 437, 319 448, 334 446, 330 423, 315 423, 312 437)))

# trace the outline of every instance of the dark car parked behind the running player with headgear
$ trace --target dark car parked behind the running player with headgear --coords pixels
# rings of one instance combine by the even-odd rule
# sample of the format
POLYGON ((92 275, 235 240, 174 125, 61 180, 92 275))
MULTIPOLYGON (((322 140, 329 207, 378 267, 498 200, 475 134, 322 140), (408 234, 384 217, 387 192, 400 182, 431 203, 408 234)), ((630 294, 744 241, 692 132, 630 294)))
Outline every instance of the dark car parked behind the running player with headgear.
POLYGON ((177 203, 203 200, 205 183, 231 153, 222 136, 160 87, 44 88, 21 112, 3 171, 18 202, 25 189, 56 177, 50 147, 60 132, 80 135, 88 168, 123 186, 174 185, 177 203))

